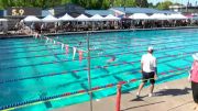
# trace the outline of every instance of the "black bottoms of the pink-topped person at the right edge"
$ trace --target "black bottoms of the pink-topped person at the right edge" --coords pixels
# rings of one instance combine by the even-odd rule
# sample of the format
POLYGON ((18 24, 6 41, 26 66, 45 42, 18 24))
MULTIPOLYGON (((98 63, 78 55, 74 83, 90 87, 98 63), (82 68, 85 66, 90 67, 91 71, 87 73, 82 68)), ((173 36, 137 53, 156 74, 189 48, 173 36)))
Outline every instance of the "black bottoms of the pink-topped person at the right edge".
POLYGON ((198 82, 191 81, 191 90, 193 90, 194 101, 198 103, 198 82))

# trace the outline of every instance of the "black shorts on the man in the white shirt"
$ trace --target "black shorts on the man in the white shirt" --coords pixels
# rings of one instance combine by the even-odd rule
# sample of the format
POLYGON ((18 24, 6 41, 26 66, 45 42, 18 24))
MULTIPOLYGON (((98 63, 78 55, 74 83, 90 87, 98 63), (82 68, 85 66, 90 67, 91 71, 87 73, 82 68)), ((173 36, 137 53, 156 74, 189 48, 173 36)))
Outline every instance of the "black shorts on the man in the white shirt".
POLYGON ((150 82, 153 85, 153 84, 155 84, 155 79, 154 79, 154 77, 155 77, 155 73, 154 71, 152 71, 152 73, 142 73, 142 81, 143 82, 147 82, 147 80, 150 79, 150 82))

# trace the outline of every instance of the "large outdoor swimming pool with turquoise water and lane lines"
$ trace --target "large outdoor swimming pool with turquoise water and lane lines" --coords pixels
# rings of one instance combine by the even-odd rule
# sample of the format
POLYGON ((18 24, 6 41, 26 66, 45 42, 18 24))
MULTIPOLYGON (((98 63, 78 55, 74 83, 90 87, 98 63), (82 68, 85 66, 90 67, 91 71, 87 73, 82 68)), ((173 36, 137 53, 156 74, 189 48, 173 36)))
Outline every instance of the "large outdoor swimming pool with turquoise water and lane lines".
MULTIPOLYGON (((87 35, 48 37, 87 51, 87 35)), ((140 59, 148 45, 155 48, 158 74, 162 74, 157 84, 186 77, 186 69, 193 62, 191 54, 198 52, 197 29, 97 33, 89 37, 94 88, 140 78, 140 59), (116 62, 108 64, 111 56, 116 56, 116 62)), ((88 90, 86 53, 79 62, 78 54, 73 59, 73 48, 65 54, 61 45, 33 37, 0 40, 0 107, 88 90)), ((122 90, 133 90, 139 84, 124 85, 122 90)), ((92 96, 100 99, 116 91, 117 88, 112 87, 92 96)), ((89 95, 84 93, 19 110, 44 111, 88 100, 89 95)))

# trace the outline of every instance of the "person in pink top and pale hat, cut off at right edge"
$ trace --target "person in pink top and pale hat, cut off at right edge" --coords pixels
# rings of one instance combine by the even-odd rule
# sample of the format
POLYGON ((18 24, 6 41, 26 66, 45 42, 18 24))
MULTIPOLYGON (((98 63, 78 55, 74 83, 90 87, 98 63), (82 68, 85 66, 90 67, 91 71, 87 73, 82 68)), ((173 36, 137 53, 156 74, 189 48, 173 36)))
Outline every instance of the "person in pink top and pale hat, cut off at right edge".
POLYGON ((198 111, 198 53, 193 55, 194 63, 188 79, 191 81, 193 98, 196 103, 194 110, 198 111))

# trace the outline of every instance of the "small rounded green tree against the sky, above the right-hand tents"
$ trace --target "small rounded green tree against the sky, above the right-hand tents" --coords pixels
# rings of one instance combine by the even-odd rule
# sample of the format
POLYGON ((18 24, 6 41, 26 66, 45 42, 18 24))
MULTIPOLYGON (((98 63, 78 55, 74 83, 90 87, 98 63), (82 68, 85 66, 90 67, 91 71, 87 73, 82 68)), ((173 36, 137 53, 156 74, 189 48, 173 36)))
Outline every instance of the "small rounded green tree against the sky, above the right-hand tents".
POLYGON ((169 5, 173 5, 173 2, 167 0, 165 2, 158 2, 156 4, 156 8, 160 9, 160 10, 168 10, 169 5))

